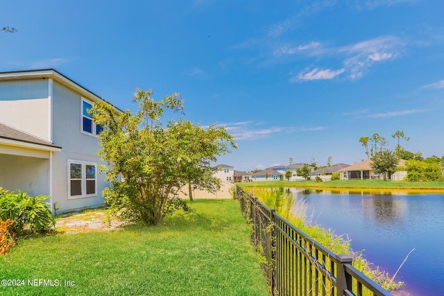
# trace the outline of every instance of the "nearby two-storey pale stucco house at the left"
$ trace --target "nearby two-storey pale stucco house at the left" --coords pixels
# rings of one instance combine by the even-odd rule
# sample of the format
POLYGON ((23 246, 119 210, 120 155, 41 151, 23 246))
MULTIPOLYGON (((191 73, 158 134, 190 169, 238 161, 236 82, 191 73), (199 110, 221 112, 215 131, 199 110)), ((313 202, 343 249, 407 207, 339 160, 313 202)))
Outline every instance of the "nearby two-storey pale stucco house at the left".
POLYGON ((53 213, 103 204, 94 101, 54 69, 0 72, 0 187, 49 195, 53 213))

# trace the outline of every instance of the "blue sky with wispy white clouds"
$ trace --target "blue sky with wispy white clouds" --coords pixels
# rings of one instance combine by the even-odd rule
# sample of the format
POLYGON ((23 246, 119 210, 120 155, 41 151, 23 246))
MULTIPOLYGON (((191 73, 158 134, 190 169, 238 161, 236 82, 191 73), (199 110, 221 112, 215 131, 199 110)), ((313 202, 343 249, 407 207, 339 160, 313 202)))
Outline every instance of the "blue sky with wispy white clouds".
POLYGON ((178 92, 229 128, 237 170, 354 164, 359 143, 444 155, 444 1, 4 1, 0 71, 54 68, 121 109, 178 92))

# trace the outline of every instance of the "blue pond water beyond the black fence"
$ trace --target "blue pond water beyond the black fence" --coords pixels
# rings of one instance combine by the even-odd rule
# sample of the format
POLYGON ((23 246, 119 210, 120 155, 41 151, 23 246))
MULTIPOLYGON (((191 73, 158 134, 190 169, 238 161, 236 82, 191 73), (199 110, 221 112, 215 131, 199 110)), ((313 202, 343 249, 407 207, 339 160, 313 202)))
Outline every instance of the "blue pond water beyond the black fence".
POLYGON ((311 205, 313 223, 350 238, 390 277, 414 249, 395 278, 402 295, 444 295, 444 194, 289 190, 311 205))

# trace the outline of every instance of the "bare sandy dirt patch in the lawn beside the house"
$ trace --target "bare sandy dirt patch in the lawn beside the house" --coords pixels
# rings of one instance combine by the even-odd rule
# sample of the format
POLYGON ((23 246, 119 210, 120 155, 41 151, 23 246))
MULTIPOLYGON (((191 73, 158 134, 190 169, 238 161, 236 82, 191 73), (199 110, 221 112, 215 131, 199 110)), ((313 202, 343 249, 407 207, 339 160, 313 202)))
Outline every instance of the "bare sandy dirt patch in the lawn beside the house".
POLYGON ((104 211, 92 211, 57 218, 56 230, 65 234, 76 234, 80 232, 110 231, 126 224, 126 222, 117 218, 110 218, 104 211))

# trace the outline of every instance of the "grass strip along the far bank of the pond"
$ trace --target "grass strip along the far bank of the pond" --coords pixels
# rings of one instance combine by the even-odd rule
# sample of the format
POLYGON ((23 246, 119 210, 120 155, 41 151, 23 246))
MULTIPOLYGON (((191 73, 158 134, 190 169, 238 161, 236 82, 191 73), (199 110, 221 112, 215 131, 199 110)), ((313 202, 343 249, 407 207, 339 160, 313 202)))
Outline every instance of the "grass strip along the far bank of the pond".
POLYGON ((444 182, 404 182, 404 181, 384 181, 384 180, 334 180, 329 182, 289 182, 289 181, 264 181, 264 182, 241 182, 237 183, 244 188, 255 186, 284 186, 299 188, 355 188, 355 189, 424 189, 434 191, 444 191, 444 182))

